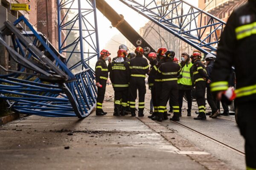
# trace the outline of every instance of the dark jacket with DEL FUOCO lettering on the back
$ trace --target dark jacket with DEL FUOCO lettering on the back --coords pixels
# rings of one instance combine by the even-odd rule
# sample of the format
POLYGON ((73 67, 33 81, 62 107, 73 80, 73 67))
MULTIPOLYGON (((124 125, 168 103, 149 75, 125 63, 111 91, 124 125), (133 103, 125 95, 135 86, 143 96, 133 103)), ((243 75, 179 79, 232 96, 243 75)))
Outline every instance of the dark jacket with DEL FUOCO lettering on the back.
POLYGON ((130 79, 129 63, 126 61, 112 62, 109 77, 114 90, 124 90, 128 88, 130 79))

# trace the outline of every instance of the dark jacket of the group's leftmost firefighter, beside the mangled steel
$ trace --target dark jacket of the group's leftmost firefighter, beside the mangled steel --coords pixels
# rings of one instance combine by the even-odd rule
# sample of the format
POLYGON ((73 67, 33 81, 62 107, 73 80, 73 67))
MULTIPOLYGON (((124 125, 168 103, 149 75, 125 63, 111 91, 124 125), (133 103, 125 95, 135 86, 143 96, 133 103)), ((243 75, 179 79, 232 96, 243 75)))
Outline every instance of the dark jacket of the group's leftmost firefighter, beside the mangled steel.
POLYGON ((95 65, 95 77, 96 82, 99 82, 99 79, 105 79, 106 81, 108 79, 108 66, 106 64, 106 61, 101 57, 95 65))

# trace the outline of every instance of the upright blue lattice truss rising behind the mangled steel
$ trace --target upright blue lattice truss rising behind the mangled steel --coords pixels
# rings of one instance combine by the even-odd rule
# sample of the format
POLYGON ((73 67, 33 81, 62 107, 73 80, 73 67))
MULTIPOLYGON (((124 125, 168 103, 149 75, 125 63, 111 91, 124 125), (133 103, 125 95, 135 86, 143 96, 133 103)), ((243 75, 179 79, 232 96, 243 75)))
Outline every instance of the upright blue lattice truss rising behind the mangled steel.
POLYGON ((58 42, 70 70, 90 68, 86 61, 99 59, 95 0, 58 0, 58 42))

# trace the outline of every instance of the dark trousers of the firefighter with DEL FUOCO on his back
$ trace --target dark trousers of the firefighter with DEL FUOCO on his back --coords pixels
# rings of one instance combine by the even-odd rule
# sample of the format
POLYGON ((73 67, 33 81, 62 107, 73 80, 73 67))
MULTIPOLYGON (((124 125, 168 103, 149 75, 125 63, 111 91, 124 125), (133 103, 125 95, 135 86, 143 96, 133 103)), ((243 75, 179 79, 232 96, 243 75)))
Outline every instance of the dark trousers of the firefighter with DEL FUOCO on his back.
POLYGON ((127 107, 127 94, 128 88, 115 90, 115 108, 120 108, 120 105, 122 105, 122 109, 125 111, 127 107))

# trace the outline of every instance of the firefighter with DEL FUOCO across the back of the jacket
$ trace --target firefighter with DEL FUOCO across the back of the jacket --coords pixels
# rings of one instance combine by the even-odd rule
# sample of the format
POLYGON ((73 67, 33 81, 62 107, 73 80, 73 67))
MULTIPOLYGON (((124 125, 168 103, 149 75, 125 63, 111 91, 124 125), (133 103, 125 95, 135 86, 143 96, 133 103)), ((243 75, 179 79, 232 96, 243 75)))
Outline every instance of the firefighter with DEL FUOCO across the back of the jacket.
POLYGON ((127 107, 128 82, 130 79, 129 63, 124 60, 127 52, 124 49, 117 51, 117 58, 111 63, 109 77, 115 91, 115 112, 113 116, 125 116, 127 107), (121 101, 122 99, 122 101, 121 101), (122 110, 121 110, 122 105, 122 110))

